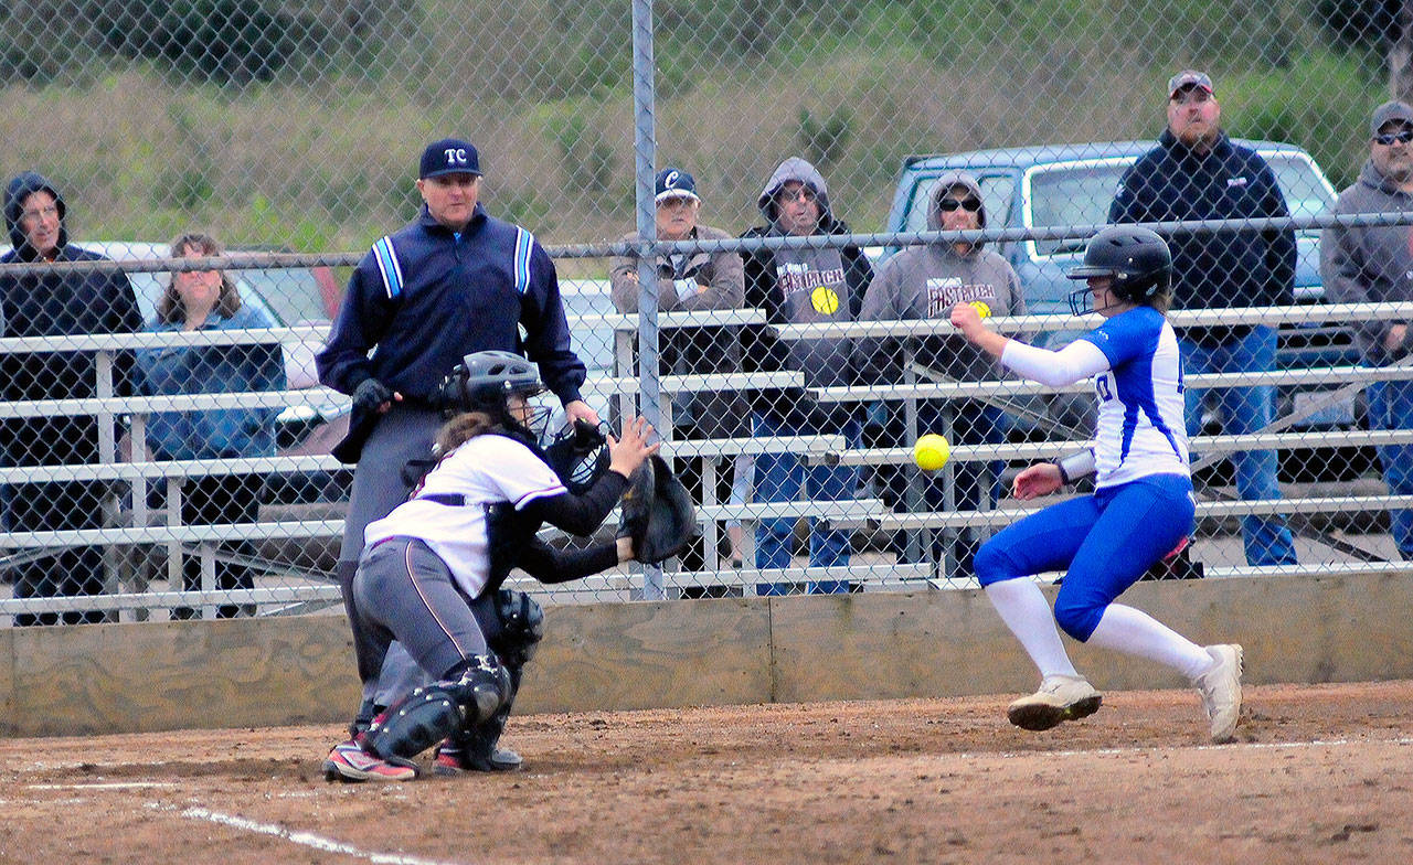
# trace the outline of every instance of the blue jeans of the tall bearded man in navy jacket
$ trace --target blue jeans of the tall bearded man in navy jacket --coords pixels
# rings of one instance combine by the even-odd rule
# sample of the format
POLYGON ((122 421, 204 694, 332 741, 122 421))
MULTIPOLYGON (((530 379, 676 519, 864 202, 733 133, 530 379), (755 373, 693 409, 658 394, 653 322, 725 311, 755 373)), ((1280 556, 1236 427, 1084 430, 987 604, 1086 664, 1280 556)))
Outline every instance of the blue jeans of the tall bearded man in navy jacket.
MULTIPOLYGON (((1187 339, 1180 345, 1184 375, 1270 372, 1276 367, 1275 328, 1256 326, 1241 339, 1229 339, 1215 348, 1187 339)), ((1225 432, 1245 435, 1270 425, 1276 408, 1275 386, 1224 387, 1212 393, 1217 396, 1225 432)), ((1201 431, 1205 396, 1205 390, 1187 389, 1184 410, 1188 435, 1201 431)), ((1280 498, 1275 451, 1241 451, 1232 454, 1231 461, 1236 473, 1236 493, 1242 500, 1280 498)), ((1283 517, 1245 516, 1241 531, 1248 564, 1296 564, 1294 541, 1283 517)))

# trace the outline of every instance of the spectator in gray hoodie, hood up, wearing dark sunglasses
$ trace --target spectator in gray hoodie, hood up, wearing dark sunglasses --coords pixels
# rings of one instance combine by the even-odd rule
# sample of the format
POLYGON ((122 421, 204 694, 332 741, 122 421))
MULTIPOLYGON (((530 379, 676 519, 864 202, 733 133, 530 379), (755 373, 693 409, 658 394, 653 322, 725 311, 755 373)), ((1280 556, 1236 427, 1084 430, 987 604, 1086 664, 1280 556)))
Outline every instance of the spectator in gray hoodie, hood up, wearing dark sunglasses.
MULTIPOLYGON (((981 185, 971 174, 952 171, 937 181, 928 196, 927 228, 930 230, 968 230, 986 226, 986 208, 981 185)), ((1000 377, 998 366, 957 334, 950 324, 957 304, 985 304, 991 315, 1023 315, 1026 301, 1020 294, 1020 280, 1010 264, 981 243, 945 243, 911 246, 894 254, 879 269, 877 277, 863 295, 861 321, 935 321, 938 332, 907 339, 862 339, 858 363, 870 383, 903 380, 907 352, 914 362, 937 376, 923 373, 918 380, 975 382, 1000 377)), ((911 445, 924 432, 947 435, 952 444, 995 444, 1005 437, 1005 414, 981 400, 921 400, 917 407, 917 428, 904 428, 897 403, 882 403, 869 413, 870 441, 879 447, 911 445)), ((996 503, 996 466, 962 462, 947 466, 954 482, 954 499, 945 499, 945 472, 918 478, 917 471, 882 472, 886 496, 894 510, 909 509, 910 478, 921 485, 921 505, 927 510, 983 510, 996 503)), ((981 544, 982 531, 966 529, 957 533, 952 546, 951 575, 969 577, 972 557, 981 544)), ((910 554, 904 537, 896 539, 899 560, 910 554)), ((941 543, 931 544, 933 560, 940 575, 947 577, 941 543)))

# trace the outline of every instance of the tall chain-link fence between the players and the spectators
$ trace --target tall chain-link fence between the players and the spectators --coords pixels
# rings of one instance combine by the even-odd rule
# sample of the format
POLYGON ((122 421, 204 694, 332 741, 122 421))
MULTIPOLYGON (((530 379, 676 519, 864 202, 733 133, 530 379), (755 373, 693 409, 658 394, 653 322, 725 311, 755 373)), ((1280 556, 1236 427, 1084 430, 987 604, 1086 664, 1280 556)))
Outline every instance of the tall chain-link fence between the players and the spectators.
POLYGON ((1174 256, 1190 557, 1397 568, 1413 117, 1375 109, 1413 4, 1277 6, 10 6, 0 622, 338 609, 350 411, 314 358, 444 136, 554 256, 585 401, 653 417, 701 502, 661 572, 551 599, 975 585, 1095 400, 950 311, 1071 342, 1108 222, 1174 256))

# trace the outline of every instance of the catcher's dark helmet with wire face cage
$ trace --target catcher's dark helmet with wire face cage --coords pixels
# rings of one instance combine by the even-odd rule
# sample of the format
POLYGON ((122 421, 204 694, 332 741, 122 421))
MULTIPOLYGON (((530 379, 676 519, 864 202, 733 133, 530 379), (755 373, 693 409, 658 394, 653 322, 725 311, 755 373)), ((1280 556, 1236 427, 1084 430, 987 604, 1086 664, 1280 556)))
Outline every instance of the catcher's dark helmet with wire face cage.
POLYGON ((475 352, 442 379, 439 401, 442 414, 452 417, 463 411, 483 411, 496 424, 510 430, 524 430, 540 438, 550 421, 551 408, 528 400, 544 393, 536 365, 513 352, 475 352), (512 410, 512 397, 528 406, 524 418, 512 410))

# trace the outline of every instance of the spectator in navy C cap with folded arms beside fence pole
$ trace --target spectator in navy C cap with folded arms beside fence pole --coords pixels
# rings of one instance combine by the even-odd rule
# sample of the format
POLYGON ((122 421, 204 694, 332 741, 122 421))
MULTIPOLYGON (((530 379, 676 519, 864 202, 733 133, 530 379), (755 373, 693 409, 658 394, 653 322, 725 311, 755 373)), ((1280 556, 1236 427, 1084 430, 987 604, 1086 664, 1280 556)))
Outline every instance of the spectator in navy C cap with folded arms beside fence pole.
MULTIPOLYGON (((654 204, 657 209, 658 240, 728 240, 731 235, 702 225, 702 199, 697 180, 681 168, 664 168, 657 174, 654 204)), ((630 233, 625 240, 637 240, 630 233)), ((619 256, 609 263, 609 284, 613 305, 619 312, 637 312, 639 284, 636 256, 619 256)), ((740 256, 735 252, 680 252, 657 256, 657 308, 660 312, 699 312, 706 310, 739 310, 745 300, 740 256)), ((661 372, 666 375, 723 375, 740 372, 740 328, 718 325, 706 328, 673 328, 658 339, 661 372)), ((750 434, 750 414, 739 390, 699 390, 673 397, 673 438, 738 438, 750 434)), ((749 457, 735 464, 735 473, 749 472, 749 457)), ((722 481, 728 475, 722 473, 722 481)), ((702 500, 702 466, 699 458, 687 462, 682 481, 697 500, 702 500)), ((739 485, 716 490, 714 500, 732 499, 739 485)), ((739 522, 735 531, 739 534, 739 522)), ((728 524, 728 530, 732 526, 728 524)), ((732 544, 732 558, 739 551, 732 544)), ((702 563, 701 551, 690 551, 682 558, 687 570, 702 563)))

